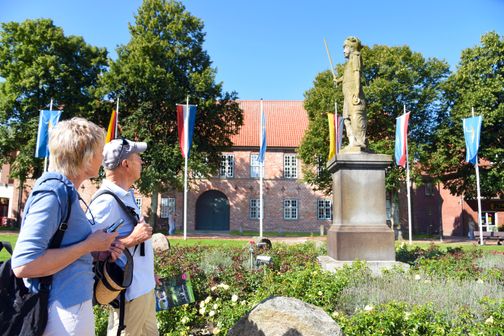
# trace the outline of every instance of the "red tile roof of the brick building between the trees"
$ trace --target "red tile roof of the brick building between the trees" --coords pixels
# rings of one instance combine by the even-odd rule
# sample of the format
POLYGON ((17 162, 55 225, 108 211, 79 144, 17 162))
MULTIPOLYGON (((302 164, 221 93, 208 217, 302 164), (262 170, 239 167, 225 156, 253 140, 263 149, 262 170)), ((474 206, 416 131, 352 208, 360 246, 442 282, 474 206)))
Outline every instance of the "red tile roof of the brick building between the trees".
MULTIPOLYGON (((259 147, 260 100, 239 100, 243 126, 231 140, 234 146, 259 147)), ((308 114, 302 100, 264 100, 268 147, 299 147, 308 128, 308 114)))

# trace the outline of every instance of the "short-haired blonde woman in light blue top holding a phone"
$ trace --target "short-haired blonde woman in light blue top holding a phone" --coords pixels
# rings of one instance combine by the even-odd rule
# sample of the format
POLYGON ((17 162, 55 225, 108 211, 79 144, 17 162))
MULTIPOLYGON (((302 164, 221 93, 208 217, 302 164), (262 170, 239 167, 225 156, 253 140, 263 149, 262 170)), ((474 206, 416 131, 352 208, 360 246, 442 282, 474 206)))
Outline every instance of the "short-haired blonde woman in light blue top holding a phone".
POLYGON ((84 180, 98 175, 104 138, 102 128, 82 118, 54 126, 49 135, 49 171, 37 180, 26 201, 12 269, 34 291, 39 288, 38 278, 52 275, 44 335, 94 335, 91 252, 115 256, 121 252, 117 233, 92 233, 93 223, 86 218, 77 192, 84 180), (60 247, 49 248, 67 214, 60 247))

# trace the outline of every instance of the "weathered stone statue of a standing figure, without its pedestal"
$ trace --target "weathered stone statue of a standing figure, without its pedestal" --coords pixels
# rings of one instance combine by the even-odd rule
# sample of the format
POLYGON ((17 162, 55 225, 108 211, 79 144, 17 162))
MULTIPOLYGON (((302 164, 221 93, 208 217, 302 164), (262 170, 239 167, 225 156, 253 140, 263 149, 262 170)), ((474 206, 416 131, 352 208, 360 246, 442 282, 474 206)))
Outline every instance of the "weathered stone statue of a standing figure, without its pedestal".
POLYGON ((342 149, 342 153, 361 152, 367 147, 366 99, 361 85, 361 48, 362 44, 358 38, 350 36, 345 40, 343 53, 348 61, 343 76, 334 79, 336 84, 343 84, 343 118, 349 144, 342 149))

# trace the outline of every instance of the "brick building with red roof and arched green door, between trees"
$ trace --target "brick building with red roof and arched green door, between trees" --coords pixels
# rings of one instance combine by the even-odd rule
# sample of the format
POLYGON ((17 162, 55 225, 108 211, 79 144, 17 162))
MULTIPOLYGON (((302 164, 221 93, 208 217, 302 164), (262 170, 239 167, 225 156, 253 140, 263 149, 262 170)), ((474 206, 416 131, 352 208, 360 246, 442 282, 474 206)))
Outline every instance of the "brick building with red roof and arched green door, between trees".
MULTIPOLYGON (((188 230, 259 230, 260 101, 239 102, 244 125, 232 138, 233 148, 222 153, 218 176, 192 179, 188 193, 188 230)), ((302 101, 264 101, 268 149, 264 163, 264 230, 319 232, 331 224, 330 196, 302 182, 297 157, 308 117, 302 101)), ((175 206, 177 228, 183 223, 183 194, 166 193, 160 199, 160 217, 166 223, 175 206)))

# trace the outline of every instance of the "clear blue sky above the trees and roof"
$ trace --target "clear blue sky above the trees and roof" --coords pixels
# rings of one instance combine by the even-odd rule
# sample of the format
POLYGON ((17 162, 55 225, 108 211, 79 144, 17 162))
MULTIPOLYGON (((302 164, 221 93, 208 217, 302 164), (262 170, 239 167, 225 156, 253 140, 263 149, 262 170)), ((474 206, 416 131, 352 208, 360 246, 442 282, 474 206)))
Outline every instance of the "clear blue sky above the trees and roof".
MULTIPOLYGON (((328 69, 325 37, 335 63, 342 42, 409 45, 452 69, 463 49, 488 31, 504 34, 504 0, 187 0, 205 23, 217 80, 241 99, 303 99, 317 73, 328 69)), ((115 48, 129 40, 128 23, 141 0, 0 0, 0 22, 51 18, 67 35, 115 48)))

